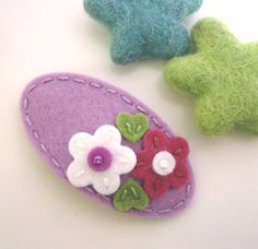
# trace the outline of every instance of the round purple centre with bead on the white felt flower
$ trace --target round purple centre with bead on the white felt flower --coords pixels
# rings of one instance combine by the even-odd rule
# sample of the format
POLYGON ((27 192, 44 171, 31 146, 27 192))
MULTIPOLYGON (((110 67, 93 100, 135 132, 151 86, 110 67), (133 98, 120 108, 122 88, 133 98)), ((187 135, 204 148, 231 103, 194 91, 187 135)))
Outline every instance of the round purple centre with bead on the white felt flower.
POLYGON ((106 147, 94 147, 87 155, 87 164, 95 171, 104 171, 112 165, 112 153, 106 147))

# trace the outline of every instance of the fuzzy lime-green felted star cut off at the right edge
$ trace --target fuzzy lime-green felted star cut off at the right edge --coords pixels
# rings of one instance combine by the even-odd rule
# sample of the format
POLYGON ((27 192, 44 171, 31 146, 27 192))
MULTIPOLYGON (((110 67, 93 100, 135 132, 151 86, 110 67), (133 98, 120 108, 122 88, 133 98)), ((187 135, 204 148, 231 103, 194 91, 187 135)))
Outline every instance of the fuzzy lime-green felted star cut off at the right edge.
POLYGON ((212 17, 199 21, 191 36, 192 54, 171 60, 165 79, 192 97, 199 130, 258 134, 258 44, 241 44, 212 17))

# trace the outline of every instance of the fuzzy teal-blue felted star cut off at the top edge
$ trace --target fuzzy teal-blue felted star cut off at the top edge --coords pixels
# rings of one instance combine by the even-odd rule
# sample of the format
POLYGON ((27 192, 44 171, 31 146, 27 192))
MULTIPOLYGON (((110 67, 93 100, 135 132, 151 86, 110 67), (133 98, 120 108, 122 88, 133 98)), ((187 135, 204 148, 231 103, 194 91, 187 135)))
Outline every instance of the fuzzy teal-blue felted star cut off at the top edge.
POLYGON ((115 63, 141 58, 163 60, 184 55, 189 35, 184 19, 202 0, 84 0, 84 9, 112 33, 110 55, 115 63))

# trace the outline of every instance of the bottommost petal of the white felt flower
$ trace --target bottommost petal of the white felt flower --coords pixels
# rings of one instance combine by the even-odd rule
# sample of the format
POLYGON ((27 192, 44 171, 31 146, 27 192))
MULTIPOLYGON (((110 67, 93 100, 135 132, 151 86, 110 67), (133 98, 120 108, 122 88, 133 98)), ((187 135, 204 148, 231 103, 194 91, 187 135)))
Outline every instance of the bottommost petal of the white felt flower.
POLYGON ((102 177, 96 177, 93 182, 93 188, 103 195, 115 193, 120 186, 120 177, 117 174, 103 174, 102 177))

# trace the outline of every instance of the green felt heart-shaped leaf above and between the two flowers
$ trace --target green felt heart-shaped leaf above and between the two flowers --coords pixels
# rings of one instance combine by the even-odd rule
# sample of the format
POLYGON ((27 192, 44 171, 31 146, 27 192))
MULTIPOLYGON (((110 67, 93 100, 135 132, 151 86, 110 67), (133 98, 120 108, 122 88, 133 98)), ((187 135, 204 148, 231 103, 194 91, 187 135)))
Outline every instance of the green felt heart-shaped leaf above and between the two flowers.
POLYGON ((121 112, 117 116, 116 126, 124 139, 136 143, 149 129, 149 118, 144 114, 130 115, 121 112))

